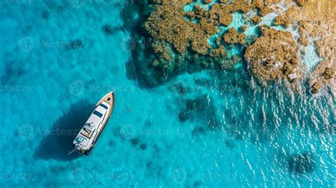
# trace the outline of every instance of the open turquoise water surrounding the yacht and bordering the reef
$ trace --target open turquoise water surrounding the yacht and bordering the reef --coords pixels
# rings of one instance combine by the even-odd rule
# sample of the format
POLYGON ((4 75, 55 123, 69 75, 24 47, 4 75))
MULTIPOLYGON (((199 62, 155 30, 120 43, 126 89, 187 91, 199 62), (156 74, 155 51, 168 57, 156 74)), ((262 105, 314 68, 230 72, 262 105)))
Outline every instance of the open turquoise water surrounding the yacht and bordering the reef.
POLYGON ((0 4, 0 187, 335 187, 332 92, 260 87, 246 65, 140 87, 120 14, 132 2, 0 4), (111 90, 93 155, 67 155, 111 90))

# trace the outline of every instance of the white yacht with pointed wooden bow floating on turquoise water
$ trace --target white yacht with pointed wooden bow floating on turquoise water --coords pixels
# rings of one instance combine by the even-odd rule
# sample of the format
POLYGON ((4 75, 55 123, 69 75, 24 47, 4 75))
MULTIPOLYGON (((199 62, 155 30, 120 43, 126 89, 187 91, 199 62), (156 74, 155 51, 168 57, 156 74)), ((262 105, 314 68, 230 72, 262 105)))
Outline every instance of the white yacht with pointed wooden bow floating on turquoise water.
MULTIPOLYGON (((83 155, 90 155, 114 109, 114 92, 110 92, 96 104, 86 123, 74 139, 72 148, 83 155)), ((74 151, 72 150, 72 152, 74 151)), ((72 153, 71 152, 71 153, 72 153)), ((69 153, 70 154, 70 153, 69 153)))

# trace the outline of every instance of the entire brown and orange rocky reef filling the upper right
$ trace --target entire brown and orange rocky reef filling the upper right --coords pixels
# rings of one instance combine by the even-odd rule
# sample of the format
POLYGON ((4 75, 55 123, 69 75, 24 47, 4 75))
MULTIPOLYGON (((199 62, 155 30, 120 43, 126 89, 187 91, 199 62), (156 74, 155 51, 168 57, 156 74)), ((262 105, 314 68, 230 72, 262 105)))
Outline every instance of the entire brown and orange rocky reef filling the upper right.
POLYGON ((233 70, 243 60, 262 84, 280 81, 293 86, 299 80, 308 79, 313 94, 325 86, 335 89, 333 19, 329 18, 330 7, 335 5, 332 1, 220 0, 215 3, 152 0, 147 4, 150 4, 152 12, 143 21, 142 28, 154 52, 148 66, 163 72, 161 74, 166 79, 182 70, 190 71, 188 69, 193 66, 195 70, 233 70), (192 5, 192 9, 186 11, 184 7, 189 5, 192 5), (318 9, 329 13, 318 13, 318 9), (220 27, 228 27, 233 22, 232 13, 235 12, 254 14, 251 14, 253 16, 249 18, 248 26, 242 26, 239 30, 228 28, 219 35, 220 27), (258 25, 269 13, 279 15, 272 26, 296 29, 300 37, 294 37, 289 31, 258 25), (245 34, 249 26, 258 26, 260 31, 252 40, 245 34), (218 36, 211 44, 209 38, 213 35, 218 36), (324 59, 313 72, 306 71, 299 53, 310 43, 316 46, 318 55, 324 59), (229 57, 228 49, 235 46, 242 49, 242 55, 229 57))

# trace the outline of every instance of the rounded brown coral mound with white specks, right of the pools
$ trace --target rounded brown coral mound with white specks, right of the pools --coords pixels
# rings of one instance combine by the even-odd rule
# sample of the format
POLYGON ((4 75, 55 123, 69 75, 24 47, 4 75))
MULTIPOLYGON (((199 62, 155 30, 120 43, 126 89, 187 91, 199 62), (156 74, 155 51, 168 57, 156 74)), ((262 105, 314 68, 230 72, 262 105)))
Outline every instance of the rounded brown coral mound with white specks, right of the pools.
POLYGON ((260 30, 263 36, 245 52, 245 60, 251 65, 252 73, 264 81, 288 79, 296 82, 302 72, 298 46, 291 33, 276 31, 267 26, 261 26, 260 30))

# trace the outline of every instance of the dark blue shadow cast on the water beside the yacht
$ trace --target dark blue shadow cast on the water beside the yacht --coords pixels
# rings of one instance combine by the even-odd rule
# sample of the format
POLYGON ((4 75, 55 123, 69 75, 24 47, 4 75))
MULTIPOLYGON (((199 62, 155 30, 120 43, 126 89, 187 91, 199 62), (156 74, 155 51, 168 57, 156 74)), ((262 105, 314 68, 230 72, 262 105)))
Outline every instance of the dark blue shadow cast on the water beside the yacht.
POLYGON ((47 136, 43 138, 38 148, 35 150, 34 157, 49 160, 74 160, 82 155, 72 153, 72 142, 76 138, 83 126, 87 116, 89 116, 94 104, 89 101, 79 101, 73 104, 67 114, 60 117, 52 126, 47 136))

